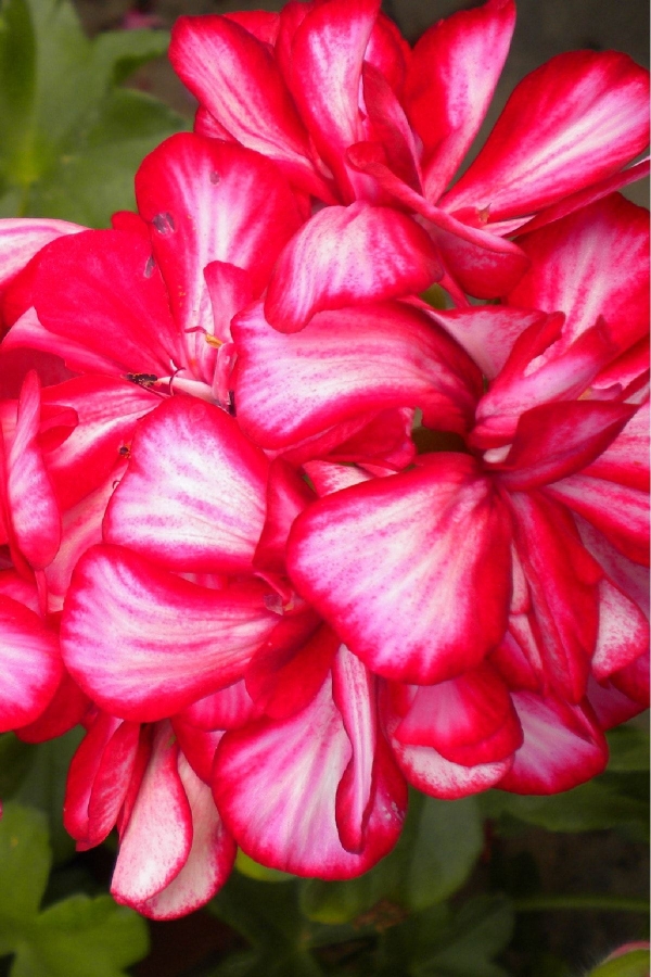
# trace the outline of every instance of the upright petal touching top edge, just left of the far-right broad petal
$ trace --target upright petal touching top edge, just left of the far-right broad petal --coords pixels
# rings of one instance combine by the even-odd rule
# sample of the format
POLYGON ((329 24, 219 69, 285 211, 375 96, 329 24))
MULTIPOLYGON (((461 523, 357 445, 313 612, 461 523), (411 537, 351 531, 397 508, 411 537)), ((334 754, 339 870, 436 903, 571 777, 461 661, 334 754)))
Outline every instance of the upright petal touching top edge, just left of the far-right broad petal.
POLYGON ((480 129, 514 25, 513 0, 489 0, 439 21, 413 49, 404 102, 423 141, 425 196, 433 203, 480 129))

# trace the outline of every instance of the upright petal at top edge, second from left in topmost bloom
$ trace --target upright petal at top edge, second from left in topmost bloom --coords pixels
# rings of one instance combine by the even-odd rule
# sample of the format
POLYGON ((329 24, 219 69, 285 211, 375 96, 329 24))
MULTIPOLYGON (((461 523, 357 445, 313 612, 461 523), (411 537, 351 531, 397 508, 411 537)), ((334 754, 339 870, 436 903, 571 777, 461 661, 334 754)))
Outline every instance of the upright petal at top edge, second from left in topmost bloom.
POLYGON ((292 94, 347 201, 356 195, 354 186, 363 185, 348 172, 344 153, 361 138, 361 67, 379 10, 379 0, 315 5, 292 42, 292 94))

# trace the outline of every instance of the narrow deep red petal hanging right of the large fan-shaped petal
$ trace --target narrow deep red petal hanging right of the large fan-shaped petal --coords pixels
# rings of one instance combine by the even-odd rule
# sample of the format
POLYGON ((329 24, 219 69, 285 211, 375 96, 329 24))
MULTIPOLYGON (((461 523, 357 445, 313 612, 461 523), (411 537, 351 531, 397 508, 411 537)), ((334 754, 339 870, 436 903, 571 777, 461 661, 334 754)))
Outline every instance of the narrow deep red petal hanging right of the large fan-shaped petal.
POLYGON ((570 513, 552 499, 516 492, 509 502, 545 675, 558 695, 578 702, 597 642, 601 570, 580 544, 570 513))

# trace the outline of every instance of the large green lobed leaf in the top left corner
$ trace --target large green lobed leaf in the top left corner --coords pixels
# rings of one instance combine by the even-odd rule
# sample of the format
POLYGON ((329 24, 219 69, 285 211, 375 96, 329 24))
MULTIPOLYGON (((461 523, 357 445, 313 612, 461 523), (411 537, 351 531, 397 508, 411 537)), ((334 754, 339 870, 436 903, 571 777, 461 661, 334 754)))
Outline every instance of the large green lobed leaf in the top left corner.
POLYGON ((187 126, 154 99, 116 86, 167 42, 154 30, 90 40, 68 0, 1 0, 1 215, 102 226, 133 206, 142 157, 187 126))

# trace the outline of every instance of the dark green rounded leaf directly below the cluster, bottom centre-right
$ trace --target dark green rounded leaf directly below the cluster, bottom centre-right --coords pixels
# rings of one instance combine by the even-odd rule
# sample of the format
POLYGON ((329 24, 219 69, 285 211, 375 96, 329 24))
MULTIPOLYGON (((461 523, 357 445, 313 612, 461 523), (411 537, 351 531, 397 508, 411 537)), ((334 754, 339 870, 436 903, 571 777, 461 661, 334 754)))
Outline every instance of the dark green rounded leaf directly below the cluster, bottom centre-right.
POLYGON ((482 848, 474 798, 438 801, 412 792, 403 836, 393 852, 359 878, 303 883, 303 911, 310 919, 330 924, 369 914, 368 922, 382 928, 399 919, 400 910, 421 910, 457 891, 482 848), (373 906, 376 918, 372 918, 373 906))

